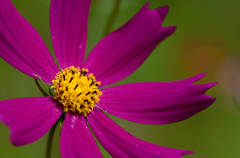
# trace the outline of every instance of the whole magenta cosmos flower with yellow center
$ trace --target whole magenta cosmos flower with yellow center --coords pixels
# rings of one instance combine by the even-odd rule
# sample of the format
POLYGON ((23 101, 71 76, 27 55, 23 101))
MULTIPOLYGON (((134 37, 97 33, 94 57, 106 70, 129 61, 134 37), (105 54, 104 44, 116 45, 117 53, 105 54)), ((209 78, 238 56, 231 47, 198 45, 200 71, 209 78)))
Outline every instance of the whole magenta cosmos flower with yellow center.
POLYGON ((187 119, 215 101, 205 91, 216 83, 193 84, 204 74, 174 82, 130 83, 98 89, 132 74, 175 31, 175 26, 162 27, 168 7, 149 10, 146 4, 127 24, 103 38, 83 62, 90 3, 90 0, 51 1, 50 28, 62 69, 59 72, 36 30, 10 0, 0 1, 0 56, 33 78, 37 74, 45 83, 53 84, 54 89, 54 97, 0 102, 0 120, 10 127, 11 142, 19 146, 38 140, 64 114, 60 137, 63 158, 102 157, 87 121, 113 157, 180 158, 193 153, 140 140, 102 111, 145 124, 187 119))

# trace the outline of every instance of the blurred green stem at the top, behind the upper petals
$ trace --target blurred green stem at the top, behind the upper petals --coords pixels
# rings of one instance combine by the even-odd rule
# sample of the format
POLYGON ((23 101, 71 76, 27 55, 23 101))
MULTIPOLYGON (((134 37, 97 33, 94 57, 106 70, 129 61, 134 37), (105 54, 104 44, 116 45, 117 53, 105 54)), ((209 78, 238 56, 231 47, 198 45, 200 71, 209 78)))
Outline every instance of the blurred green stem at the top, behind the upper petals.
POLYGON ((110 30, 112 28, 112 25, 113 25, 113 23, 114 23, 114 21, 116 19, 117 13, 119 11, 120 3, 121 3, 121 0, 116 0, 115 1, 112 13, 109 16, 109 19, 107 21, 106 27, 105 27, 105 29, 103 31, 103 37, 106 36, 110 32, 110 30))

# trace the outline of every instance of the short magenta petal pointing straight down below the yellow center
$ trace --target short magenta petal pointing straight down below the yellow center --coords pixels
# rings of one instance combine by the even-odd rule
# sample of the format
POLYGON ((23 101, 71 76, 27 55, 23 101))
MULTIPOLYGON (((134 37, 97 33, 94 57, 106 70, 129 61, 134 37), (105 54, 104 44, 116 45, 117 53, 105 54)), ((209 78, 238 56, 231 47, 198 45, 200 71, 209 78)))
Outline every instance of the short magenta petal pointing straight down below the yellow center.
POLYGON ((83 115, 67 114, 61 131, 60 149, 63 158, 103 157, 83 115))

